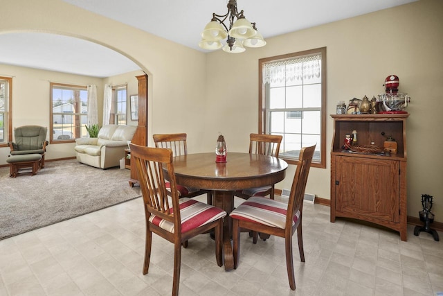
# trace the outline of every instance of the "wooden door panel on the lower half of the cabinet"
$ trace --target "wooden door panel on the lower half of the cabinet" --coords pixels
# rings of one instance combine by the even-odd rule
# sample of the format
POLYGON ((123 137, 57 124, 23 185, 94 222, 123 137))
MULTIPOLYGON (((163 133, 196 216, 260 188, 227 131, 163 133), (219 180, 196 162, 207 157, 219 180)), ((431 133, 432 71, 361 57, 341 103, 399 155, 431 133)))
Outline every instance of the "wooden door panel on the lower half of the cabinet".
POLYGON ((337 157, 336 209, 399 222, 399 162, 337 157))

